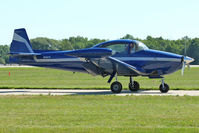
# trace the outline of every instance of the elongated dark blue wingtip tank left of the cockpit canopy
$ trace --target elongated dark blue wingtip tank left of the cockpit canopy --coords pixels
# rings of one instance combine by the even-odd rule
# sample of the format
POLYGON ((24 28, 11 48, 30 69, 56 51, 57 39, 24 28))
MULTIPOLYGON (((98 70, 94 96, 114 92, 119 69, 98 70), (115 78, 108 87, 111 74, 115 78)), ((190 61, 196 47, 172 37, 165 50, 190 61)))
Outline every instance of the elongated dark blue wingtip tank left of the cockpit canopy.
POLYGON ((68 51, 65 53, 69 56, 82 58, 102 58, 112 55, 112 50, 107 48, 87 48, 80 50, 68 51))

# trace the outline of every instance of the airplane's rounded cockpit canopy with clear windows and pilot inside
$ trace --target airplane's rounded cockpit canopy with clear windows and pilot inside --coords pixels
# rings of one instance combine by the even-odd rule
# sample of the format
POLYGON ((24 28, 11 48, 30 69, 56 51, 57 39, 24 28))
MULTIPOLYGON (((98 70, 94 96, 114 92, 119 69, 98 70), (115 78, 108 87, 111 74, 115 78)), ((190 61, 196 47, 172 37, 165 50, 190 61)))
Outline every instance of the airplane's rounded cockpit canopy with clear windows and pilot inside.
POLYGON ((126 39, 103 42, 94 47, 110 48, 116 54, 132 54, 141 50, 149 49, 140 41, 126 39))

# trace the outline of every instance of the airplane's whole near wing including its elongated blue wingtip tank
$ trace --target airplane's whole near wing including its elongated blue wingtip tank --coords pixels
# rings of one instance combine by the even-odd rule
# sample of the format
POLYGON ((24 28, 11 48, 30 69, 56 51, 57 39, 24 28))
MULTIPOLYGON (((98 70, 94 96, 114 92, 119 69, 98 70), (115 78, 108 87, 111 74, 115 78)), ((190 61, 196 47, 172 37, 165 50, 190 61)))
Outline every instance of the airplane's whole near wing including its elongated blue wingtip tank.
POLYGON ((111 57, 112 50, 107 48, 88 48, 65 52, 66 55, 85 58, 83 67, 92 75, 137 76, 141 75, 138 68, 111 57))

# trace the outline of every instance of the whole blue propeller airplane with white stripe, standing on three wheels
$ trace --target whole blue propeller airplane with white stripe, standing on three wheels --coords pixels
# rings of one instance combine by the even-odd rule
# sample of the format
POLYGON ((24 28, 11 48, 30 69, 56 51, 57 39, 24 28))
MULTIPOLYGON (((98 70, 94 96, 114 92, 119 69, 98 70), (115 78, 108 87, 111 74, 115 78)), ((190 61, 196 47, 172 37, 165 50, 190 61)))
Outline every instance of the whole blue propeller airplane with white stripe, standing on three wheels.
POLYGON ((185 65, 193 61, 188 56, 152 50, 140 41, 127 39, 106 41, 79 50, 33 50, 25 29, 14 30, 10 46, 11 63, 110 76, 108 83, 115 77, 116 81, 111 84, 113 93, 120 93, 122 90, 117 76, 130 77, 131 91, 140 88, 132 77, 161 78, 159 89, 162 93, 167 93, 169 86, 164 82, 163 75, 179 69, 182 69, 183 74, 185 65))

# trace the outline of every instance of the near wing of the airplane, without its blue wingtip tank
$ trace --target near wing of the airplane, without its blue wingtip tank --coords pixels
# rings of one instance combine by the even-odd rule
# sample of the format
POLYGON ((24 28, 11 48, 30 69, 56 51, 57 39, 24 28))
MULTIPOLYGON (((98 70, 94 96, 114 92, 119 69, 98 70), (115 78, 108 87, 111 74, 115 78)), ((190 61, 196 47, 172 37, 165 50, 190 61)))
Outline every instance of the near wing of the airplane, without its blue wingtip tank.
POLYGON ((107 76, 117 73, 118 76, 138 76, 142 74, 138 68, 111 56, 87 59, 83 67, 92 75, 107 76))

